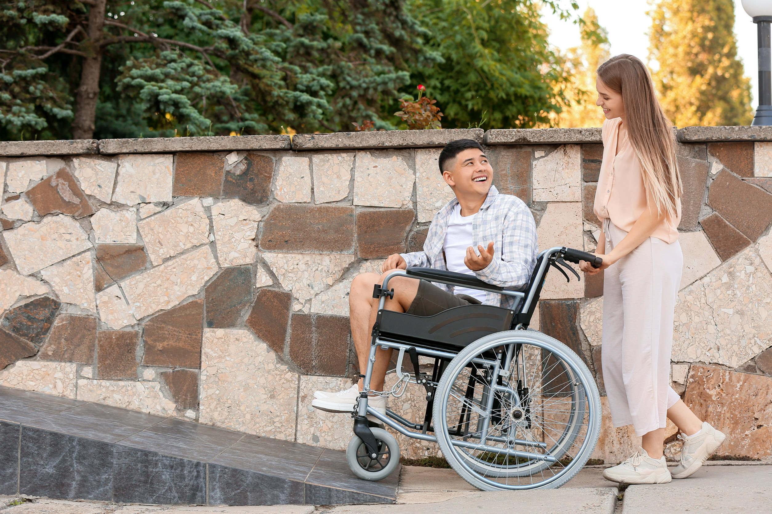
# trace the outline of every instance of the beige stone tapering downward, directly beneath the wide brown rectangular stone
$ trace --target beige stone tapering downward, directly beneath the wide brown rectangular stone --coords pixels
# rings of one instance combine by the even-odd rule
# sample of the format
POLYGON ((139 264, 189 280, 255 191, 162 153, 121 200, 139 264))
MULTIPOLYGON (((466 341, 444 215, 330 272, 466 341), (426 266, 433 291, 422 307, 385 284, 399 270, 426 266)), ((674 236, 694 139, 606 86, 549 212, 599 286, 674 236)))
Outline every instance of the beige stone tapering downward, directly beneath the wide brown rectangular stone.
POLYGON ((262 254, 284 289, 305 302, 332 286, 354 261, 347 254, 262 254))

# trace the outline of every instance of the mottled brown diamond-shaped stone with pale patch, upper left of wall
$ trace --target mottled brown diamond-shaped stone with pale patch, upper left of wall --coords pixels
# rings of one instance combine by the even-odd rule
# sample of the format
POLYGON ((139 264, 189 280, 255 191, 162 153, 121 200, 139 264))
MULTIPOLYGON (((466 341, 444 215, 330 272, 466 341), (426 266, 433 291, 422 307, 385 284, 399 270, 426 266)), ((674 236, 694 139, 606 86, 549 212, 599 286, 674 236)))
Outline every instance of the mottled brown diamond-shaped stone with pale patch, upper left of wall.
POLYGON ((25 194, 40 216, 46 216, 48 213, 63 213, 82 218, 94 213, 86 195, 80 190, 73 176, 64 168, 25 194))

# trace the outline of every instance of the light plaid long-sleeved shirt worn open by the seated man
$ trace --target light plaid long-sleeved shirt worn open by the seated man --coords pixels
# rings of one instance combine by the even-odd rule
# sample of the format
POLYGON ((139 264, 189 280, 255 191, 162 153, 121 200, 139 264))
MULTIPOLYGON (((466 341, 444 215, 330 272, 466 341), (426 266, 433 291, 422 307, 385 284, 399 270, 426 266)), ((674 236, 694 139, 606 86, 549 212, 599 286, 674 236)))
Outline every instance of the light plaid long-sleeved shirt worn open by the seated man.
MULTIPOLYGON (((433 267, 446 270, 442 247, 448 232, 448 221, 455 204, 453 198, 435 214, 424 243, 424 251, 401 254, 408 267, 433 267)), ((527 205, 518 197, 499 194, 496 186, 491 186, 485 203, 472 224, 472 247, 488 247, 493 241, 493 260, 487 267, 475 271, 481 281, 520 291, 527 287, 537 258, 536 223, 527 205)), ((435 284, 445 291, 451 286, 435 284)), ((511 308, 516 298, 486 292, 485 304, 511 308)))

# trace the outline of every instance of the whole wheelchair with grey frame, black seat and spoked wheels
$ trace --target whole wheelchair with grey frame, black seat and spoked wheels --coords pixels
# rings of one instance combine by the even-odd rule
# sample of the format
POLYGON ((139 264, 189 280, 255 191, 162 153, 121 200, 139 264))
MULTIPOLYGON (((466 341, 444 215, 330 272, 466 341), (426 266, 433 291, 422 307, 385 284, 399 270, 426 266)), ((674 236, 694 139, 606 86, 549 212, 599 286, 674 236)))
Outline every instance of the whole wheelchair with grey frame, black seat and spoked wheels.
POLYGON ((594 267, 602 262, 581 250, 544 250, 524 292, 424 267, 394 270, 376 284, 378 317, 346 452, 351 471, 361 479, 381 480, 397 468, 399 445, 388 425, 409 438, 436 442, 452 469, 483 491, 554 489, 573 478, 598 442, 598 387, 574 351, 528 328, 551 267, 567 281, 560 266, 579 280, 566 260, 594 267), (398 275, 516 297, 517 306, 465 305, 428 317, 386 311, 386 297, 394 295, 388 281, 398 275), (398 378, 391 391, 370 388, 379 346, 399 352, 396 368, 389 371, 398 378), (411 371, 403 368, 406 354, 411 371), (433 362, 431 374, 421 370, 419 357, 433 362), (375 395, 401 396, 408 384, 425 389, 422 424, 367 405, 375 395), (379 423, 368 421, 368 415, 379 423))

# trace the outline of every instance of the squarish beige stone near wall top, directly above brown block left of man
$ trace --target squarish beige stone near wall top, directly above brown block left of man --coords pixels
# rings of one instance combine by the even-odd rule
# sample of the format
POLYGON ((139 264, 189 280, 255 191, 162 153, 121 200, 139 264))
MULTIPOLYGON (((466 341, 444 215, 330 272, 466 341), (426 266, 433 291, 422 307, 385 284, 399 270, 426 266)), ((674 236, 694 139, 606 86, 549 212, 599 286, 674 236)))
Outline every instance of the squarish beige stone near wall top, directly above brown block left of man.
POLYGON ((357 152, 354 205, 412 207, 415 173, 397 150, 357 152))

